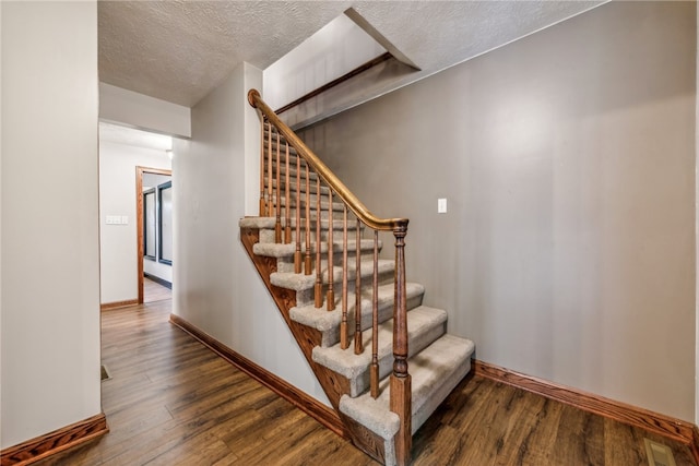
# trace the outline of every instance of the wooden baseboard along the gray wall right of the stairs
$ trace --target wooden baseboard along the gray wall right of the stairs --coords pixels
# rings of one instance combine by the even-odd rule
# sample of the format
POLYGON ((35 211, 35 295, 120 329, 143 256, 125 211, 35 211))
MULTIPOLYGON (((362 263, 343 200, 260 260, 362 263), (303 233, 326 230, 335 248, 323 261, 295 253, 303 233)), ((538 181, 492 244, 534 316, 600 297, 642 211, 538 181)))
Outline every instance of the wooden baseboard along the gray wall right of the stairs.
POLYGON ((699 432, 697 432, 697 427, 690 422, 653 413, 637 406, 615 402, 603 396, 559 385, 531 375, 525 375, 509 369, 478 361, 476 359, 473 360, 473 363, 474 373, 476 375, 502 382, 508 385, 545 396, 546 398, 574 406, 588 413, 594 413, 596 415, 679 441, 690 445, 692 452, 697 451, 695 453, 695 458, 698 457, 699 432))

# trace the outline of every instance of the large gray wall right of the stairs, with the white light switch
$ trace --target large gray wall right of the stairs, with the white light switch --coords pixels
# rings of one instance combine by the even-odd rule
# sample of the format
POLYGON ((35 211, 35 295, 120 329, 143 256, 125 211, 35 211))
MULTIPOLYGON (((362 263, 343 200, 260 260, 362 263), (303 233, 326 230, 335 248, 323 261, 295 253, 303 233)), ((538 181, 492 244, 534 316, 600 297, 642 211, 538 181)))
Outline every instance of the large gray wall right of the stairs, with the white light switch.
POLYGON ((692 2, 608 3, 308 129, 476 357, 695 403, 692 2), (437 214, 437 199, 449 212, 437 214))

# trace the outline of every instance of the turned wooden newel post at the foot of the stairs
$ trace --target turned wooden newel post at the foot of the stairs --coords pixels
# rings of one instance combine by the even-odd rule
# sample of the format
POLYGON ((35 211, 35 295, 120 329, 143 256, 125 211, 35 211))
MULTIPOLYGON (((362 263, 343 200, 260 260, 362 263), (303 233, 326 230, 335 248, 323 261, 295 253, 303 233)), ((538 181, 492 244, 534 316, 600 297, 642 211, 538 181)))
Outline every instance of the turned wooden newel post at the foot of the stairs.
POLYGON ((412 447, 412 392, 407 373, 407 309, 405 297, 405 235, 407 222, 393 227, 395 237, 395 285, 393 304, 393 373, 391 374, 391 410, 401 419, 395 434, 395 459, 410 464, 412 447))

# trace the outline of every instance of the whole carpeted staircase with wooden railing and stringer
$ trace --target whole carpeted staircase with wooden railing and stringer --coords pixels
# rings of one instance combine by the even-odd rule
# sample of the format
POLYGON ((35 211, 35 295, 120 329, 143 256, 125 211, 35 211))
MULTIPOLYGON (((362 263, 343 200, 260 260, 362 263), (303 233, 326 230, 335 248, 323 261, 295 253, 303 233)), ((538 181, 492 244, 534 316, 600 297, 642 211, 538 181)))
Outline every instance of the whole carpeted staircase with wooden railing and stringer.
POLYGON ((263 120, 260 216, 240 220, 241 241, 345 433, 379 462, 410 464, 412 434, 469 372, 474 345, 405 282, 407 219, 375 217, 257 91, 248 99, 263 120))

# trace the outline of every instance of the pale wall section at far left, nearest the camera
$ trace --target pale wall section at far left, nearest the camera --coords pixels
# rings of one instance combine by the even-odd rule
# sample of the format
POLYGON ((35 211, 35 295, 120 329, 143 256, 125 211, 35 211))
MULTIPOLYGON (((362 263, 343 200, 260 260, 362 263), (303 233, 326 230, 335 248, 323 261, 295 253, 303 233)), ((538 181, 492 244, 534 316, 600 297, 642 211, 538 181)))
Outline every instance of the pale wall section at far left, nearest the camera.
POLYGON ((0 449, 99 414, 97 2, 0 2, 0 449))

